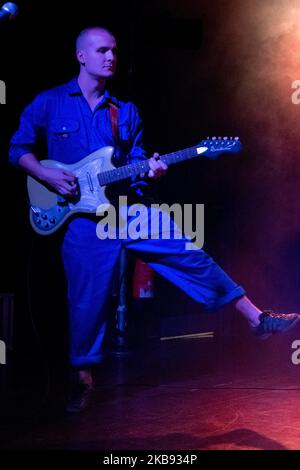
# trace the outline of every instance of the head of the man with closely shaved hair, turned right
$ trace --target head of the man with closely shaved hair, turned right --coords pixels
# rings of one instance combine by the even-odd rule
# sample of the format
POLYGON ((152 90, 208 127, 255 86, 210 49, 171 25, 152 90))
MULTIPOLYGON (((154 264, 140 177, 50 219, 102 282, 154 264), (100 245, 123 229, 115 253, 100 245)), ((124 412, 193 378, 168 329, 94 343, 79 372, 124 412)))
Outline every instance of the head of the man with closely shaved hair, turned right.
POLYGON ((91 30, 77 51, 77 58, 85 64, 84 68, 91 77, 113 77, 117 63, 116 40, 106 31, 91 30))

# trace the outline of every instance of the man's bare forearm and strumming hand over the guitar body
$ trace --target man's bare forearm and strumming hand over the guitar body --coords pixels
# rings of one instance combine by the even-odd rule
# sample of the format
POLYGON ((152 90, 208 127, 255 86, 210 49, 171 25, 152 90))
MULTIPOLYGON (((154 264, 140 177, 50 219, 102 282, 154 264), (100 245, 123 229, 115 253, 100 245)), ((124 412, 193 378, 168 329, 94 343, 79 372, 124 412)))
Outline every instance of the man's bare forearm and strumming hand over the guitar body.
POLYGON ((30 175, 54 188, 64 197, 72 198, 78 194, 76 176, 68 170, 47 168, 40 164, 33 153, 23 155, 19 165, 30 175))

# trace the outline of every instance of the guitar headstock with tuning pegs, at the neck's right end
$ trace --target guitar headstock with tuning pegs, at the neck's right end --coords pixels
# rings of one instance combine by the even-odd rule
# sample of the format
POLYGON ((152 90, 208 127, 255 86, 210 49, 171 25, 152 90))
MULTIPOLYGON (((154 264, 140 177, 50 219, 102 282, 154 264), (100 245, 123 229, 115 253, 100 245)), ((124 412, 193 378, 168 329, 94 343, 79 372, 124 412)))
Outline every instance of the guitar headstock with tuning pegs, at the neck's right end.
POLYGON ((242 145, 238 137, 212 137, 211 139, 208 137, 196 146, 197 151, 199 149, 199 154, 203 153, 212 160, 218 158, 222 153, 240 152, 241 148, 242 145), (206 147, 207 150, 201 150, 203 147, 206 147))

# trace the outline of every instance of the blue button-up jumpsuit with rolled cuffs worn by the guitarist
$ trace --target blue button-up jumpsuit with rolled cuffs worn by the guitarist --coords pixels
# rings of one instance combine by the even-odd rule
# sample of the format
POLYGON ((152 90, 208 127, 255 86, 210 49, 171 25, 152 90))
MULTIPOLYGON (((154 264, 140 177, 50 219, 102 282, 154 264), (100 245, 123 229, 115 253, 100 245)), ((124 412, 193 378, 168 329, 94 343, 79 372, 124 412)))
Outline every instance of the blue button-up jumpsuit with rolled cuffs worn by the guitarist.
MULTIPOLYGON (((13 135, 10 160, 17 165, 36 153, 40 141, 48 158, 75 163, 101 147, 114 146, 109 102, 119 107, 120 146, 116 159, 125 164, 145 159, 142 124, 133 103, 106 90, 92 111, 77 79, 39 94, 21 115, 13 135)), ((186 250, 182 239, 106 239, 96 235, 97 221, 78 216, 68 223, 62 257, 68 284, 70 362, 87 366, 102 360, 114 268, 125 247, 207 309, 219 308, 245 294, 203 250, 186 250)))

